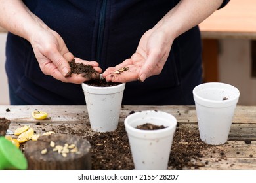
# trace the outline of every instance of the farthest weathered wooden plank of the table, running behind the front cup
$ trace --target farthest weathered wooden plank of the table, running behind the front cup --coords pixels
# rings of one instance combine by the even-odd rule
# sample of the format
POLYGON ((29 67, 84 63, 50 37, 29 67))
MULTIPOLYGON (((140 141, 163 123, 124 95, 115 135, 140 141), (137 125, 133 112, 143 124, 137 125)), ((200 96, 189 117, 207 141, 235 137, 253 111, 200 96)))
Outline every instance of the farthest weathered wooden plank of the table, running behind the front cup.
MULTIPOLYGON (((12 122, 35 122, 31 116, 33 110, 43 110, 51 116, 51 122, 60 121, 79 121, 83 120, 81 116, 87 115, 87 108, 85 105, 26 105, 26 106, 0 106, 0 117, 8 118, 12 122), (6 110, 10 111, 7 112, 6 110)), ((147 106, 147 105, 125 105, 121 108, 121 118, 129 115, 129 112, 141 110, 161 110, 173 114, 178 122, 196 123, 196 108, 194 106, 179 106, 179 105, 165 105, 165 106, 147 106)), ((238 124, 256 124, 256 106, 237 106, 234 114, 233 123, 238 124)))

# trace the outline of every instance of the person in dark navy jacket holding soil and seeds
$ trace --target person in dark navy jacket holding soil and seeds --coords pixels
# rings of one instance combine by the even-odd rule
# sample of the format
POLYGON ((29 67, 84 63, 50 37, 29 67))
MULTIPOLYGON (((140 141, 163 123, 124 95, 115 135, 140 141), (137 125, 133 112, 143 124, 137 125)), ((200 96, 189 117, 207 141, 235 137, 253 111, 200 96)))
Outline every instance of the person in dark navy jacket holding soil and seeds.
POLYGON ((81 105, 68 61, 127 82, 125 105, 192 105, 202 82, 198 24, 228 0, 0 0, 11 105, 81 105), (118 74, 118 69, 129 71, 118 74))

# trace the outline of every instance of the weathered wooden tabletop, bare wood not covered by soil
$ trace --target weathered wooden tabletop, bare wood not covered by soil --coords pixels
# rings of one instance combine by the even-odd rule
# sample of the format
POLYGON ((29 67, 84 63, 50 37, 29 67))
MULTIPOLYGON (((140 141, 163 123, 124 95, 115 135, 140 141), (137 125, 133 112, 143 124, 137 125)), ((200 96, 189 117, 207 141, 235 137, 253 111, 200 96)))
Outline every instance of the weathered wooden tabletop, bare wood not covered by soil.
MULTIPOLYGON (((54 131, 59 125, 67 127, 85 127, 89 123, 87 108, 84 105, 27 105, 27 106, 0 106, 0 117, 11 120, 9 129, 14 131, 20 125, 30 125, 37 133, 43 133, 38 122, 32 118, 33 110, 48 112, 49 119, 41 121, 48 124, 46 131, 54 131), (9 111, 9 112, 7 112, 9 111)), ((121 108, 119 123, 123 123, 131 111, 161 110, 173 114, 179 124, 188 129, 197 127, 196 110, 194 106, 133 106, 125 105, 121 108)), ((237 106, 234 120, 230 130, 229 140, 226 144, 216 146, 224 152, 225 158, 219 159, 219 154, 210 151, 203 155, 202 161, 208 161, 204 167, 198 169, 256 169, 256 106, 237 106), (246 144, 249 139, 251 144, 246 144), (239 152, 239 153, 238 153, 239 152)))

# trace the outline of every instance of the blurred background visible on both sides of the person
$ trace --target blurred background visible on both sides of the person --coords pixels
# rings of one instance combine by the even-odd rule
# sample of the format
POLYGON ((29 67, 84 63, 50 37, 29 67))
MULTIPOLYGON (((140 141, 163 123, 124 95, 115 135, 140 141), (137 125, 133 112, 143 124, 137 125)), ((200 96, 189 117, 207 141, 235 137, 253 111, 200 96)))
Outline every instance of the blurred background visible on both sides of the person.
MULTIPOLYGON (((238 105, 256 105, 256 1, 231 0, 200 24, 204 82, 240 90, 238 105)), ((7 33, 0 29, 0 105, 9 105, 5 74, 7 33)))

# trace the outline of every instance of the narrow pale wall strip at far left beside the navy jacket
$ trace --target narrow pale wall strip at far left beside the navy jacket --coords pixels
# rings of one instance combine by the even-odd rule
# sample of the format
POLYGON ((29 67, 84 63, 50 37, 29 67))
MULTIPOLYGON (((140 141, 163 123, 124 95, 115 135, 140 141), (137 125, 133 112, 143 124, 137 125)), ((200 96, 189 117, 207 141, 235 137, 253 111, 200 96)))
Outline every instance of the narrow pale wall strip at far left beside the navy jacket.
POLYGON ((5 42, 7 33, 0 32, 0 105, 9 105, 9 90, 5 73, 5 42))

